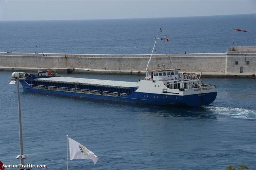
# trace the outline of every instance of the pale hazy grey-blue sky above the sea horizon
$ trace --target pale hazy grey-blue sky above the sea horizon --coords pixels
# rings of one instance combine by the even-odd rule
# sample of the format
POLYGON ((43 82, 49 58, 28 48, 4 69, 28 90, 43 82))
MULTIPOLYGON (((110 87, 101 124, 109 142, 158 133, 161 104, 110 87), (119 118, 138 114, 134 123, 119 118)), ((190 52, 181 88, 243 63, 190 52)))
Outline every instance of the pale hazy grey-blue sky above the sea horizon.
POLYGON ((162 18, 256 13, 256 0, 0 0, 0 20, 162 18))

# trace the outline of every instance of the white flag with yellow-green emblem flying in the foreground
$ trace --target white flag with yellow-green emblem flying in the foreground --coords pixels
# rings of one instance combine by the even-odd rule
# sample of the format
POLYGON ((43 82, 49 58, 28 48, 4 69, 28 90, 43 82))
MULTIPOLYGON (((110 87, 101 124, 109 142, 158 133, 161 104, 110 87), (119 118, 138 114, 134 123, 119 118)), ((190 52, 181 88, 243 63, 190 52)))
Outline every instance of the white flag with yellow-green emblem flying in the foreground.
POLYGON ((96 164, 98 157, 84 145, 76 142, 75 140, 68 138, 69 143, 69 160, 72 159, 92 159, 94 165, 96 164))

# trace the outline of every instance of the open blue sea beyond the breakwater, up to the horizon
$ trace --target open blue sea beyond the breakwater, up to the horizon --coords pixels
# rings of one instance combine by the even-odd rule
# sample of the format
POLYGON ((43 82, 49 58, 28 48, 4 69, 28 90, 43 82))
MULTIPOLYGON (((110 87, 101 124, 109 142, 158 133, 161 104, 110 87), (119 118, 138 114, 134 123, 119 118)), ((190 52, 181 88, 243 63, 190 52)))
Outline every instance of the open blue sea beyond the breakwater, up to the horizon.
MULTIPOLYGON (((148 54, 156 30, 168 35, 170 53, 224 53, 256 46, 256 14, 69 21, 0 21, 0 51, 82 54, 148 54)), ((157 45, 155 53, 166 53, 157 45)))

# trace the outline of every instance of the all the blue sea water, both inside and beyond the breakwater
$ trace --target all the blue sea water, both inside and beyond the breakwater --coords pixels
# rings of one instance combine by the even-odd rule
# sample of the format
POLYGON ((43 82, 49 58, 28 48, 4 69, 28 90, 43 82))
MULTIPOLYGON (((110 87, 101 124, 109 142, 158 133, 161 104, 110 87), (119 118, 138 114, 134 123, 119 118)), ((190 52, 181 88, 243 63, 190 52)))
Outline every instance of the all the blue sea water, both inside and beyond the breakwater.
MULTIPOLYGON (((168 35, 171 53, 225 52, 256 46, 256 16, 1 21, 0 51, 148 54, 156 29, 168 35)), ((163 45, 156 53, 165 53, 163 45)), ((0 72, 0 160, 19 164, 17 86, 0 72)), ((60 74, 138 81, 143 76, 60 74)), ((66 135, 98 156, 71 160, 69 169, 256 169, 256 79, 204 79, 217 88, 203 107, 159 107, 24 92, 20 86, 25 164, 66 169, 66 135)), ((12 168, 10 168, 12 169, 12 168)), ((37 169, 37 168, 34 168, 37 169)), ((39 168, 38 168, 39 169, 39 168)))

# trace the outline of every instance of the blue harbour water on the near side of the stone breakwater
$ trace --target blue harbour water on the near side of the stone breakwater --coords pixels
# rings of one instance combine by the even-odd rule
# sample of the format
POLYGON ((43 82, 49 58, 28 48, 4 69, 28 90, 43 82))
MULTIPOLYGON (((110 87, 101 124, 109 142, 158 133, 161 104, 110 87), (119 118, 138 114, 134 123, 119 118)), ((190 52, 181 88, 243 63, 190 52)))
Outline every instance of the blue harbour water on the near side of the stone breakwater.
MULTIPOLYGON (((17 86, 0 72, 0 160, 18 164, 17 86)), ((138 81, 140 76, 60 74, 138 81)), ((66 168, 66 135, 98 156, 70 169, 256 169, 256 80, 203 79, 217 87, 204 107, 159 107, 28 93, 20 86, 25 164, 66 168)))

